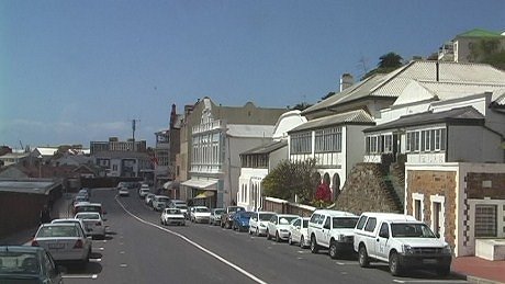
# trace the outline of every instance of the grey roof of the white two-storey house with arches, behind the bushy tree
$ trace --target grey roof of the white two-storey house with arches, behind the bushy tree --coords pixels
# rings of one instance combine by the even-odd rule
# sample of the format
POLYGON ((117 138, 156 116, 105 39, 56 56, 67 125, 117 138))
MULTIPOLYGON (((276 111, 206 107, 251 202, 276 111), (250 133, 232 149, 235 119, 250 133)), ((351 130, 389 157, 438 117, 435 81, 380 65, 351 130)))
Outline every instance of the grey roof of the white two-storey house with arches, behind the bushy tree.
POLYGON ((315 118, 308 121, 289 133, 301 132, 306 129, 323 128, 332 125, 348 125, 348 124, 358 124, 358 125, 373 125, 375 122, 372 116, 363 110, 357 110, 346 113, 338 113, 329 116, 324 116, 321 118, 315 118))

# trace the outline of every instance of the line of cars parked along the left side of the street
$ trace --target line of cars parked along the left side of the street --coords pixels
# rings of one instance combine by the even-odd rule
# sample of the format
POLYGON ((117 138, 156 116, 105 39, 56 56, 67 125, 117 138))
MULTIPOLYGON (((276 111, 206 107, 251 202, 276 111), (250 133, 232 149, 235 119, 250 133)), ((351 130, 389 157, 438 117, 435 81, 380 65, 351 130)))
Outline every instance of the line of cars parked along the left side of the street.
POLYGON ((100 203, 90 202, 91 191, 81 189, 72 200, 71 218, 41 224, 25 246, 0 247, 0 283, 63 283, 61 262, 89 262, 92 238, 105 236, 100 203))

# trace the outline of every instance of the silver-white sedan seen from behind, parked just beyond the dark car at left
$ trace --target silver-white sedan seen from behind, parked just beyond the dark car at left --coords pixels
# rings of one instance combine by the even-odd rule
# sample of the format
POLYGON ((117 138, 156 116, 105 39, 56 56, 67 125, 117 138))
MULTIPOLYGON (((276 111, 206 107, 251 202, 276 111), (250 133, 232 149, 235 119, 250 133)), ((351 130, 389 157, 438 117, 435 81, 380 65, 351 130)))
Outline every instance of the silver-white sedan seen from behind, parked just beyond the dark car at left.
POLYGON ((91 238, 76 224, 43 224, 32 240, 32 247, 42 247, 56 261, 89 262, 91 238))

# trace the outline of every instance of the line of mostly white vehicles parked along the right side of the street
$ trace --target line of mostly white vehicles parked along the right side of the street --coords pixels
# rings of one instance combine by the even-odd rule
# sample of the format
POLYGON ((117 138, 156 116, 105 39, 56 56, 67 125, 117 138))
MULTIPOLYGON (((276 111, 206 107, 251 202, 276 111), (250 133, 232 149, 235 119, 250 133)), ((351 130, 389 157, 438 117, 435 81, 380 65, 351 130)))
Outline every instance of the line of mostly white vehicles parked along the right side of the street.
POLYGON ((287 241, 313 253, 325 250, 332 259, 357 254, 362 268, 372 262, 386 262, 392 275, 402 275, 409 269, 434 270, 439 275, 450 273, 449 245, 429 226, 409 215, 366 212, 358 216, 317 209, 311 217, 302 217, 248 212, 240 206, 206 211, 211 225, 287 241))

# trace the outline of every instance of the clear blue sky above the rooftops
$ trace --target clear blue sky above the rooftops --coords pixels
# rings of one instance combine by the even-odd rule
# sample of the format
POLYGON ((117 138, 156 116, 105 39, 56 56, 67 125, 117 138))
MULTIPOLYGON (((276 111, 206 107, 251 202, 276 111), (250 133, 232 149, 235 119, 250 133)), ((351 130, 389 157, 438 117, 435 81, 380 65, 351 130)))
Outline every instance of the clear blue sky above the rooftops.
POLYGON ((0 145, 132 136, 154 146, 171 104, 315 103, 395 52, 428 56, 505 1, 0 1, 0 145), (362 64, 364 63, 364 65, 362 64))

